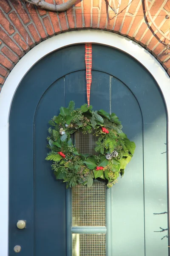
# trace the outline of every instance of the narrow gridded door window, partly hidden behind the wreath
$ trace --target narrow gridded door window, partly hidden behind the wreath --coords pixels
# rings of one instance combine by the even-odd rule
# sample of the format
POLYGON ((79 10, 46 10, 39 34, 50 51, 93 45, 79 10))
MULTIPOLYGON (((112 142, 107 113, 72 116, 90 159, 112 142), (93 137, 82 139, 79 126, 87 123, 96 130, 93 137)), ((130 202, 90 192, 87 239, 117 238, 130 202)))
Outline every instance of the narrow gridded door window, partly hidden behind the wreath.
MULTIPOLYGON (((75 134, 75 145, 81 154, 95 154, 96 137, 75 134)), ((106 185, 78 185, 72 189, 71 237, 72 256, 106 256, 106 185)))

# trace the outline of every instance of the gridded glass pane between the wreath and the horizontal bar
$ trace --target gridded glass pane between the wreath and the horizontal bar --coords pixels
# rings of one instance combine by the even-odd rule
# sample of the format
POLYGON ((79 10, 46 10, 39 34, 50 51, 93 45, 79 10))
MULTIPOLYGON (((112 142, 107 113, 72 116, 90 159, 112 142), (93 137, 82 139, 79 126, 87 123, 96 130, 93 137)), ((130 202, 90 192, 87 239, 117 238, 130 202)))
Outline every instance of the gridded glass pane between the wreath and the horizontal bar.
POLYGON ((72 189, 72 226, 105 227, 105 183, 78 185, 72 189))

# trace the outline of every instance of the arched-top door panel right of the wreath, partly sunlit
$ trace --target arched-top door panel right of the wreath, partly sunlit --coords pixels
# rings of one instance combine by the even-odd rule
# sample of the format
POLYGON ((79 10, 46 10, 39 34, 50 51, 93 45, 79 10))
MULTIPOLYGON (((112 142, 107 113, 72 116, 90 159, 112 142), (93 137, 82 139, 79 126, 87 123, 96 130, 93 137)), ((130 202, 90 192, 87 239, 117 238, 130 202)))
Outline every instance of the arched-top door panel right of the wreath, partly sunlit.
POLYGON ((143 119, 139 103, 129 88, 112 77, 111 110, 122 121, 123 131, 135 140, 133 160, 125 169, 125 176, 111 190, 113 197, 112 255, 144 255, 144 182, 143 182, 143 119), (137 156, 137 157, 136 157, 137 156), (128 235, 127 235, 128 234, 128 235), (136 234, 136 235, 134 235, 136 234), (120 239, 121 238, 121 239, 120 239), (123 241, 123 246, 122 246, 123 241))

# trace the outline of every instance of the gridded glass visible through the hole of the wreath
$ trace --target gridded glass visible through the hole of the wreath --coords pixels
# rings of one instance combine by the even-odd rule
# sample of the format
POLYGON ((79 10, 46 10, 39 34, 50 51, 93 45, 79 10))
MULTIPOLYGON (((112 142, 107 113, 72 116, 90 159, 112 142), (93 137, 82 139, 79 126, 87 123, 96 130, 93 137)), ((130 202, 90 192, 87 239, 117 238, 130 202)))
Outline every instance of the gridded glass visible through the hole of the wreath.
POLYGON ((75 133, 75 146, 79 154, 97 155, 94 150, 98 138, 92 134, 83 134, 82 131, 75 133))

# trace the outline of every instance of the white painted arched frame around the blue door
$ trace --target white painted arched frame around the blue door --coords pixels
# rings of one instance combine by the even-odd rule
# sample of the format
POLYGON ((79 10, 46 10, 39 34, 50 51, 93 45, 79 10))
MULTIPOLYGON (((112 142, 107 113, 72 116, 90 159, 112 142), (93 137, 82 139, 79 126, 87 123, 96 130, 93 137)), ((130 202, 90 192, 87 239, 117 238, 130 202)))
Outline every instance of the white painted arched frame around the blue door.
MULTIPOLYGON (((14 94, 26 73, 37 61, 62 47, 72 44, 95 43, 120 49, 139 61, 158 83, 170 115, 170 78, 147 50, 139 44, 111 32, 101 30, 78 30, 66 32, 35 46, 16 64, 0 93, 0 255, 8 256, 8 120, 14 94)), ((170 134, 170 125, 168 125, 170 134)), ((169 137, 168 137, 169 138, 169 137)), ((168 147, 170 140, 168 139, 168 147)), ((168 151, 170 159, 170 151, 168 151)), ((169 161, 170 167, 170 161, 169 161)), ((169 168, 170 169, 170 168, 169 168)), ((170 175, 169 175, 170 176, 170 175)), ((168 180, 170 182, 170 178, 168 180)), ((169 190, 170 192, 170 190, 169 190)), ((170 193, 169 193, 170 195, 170 193)))

